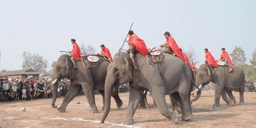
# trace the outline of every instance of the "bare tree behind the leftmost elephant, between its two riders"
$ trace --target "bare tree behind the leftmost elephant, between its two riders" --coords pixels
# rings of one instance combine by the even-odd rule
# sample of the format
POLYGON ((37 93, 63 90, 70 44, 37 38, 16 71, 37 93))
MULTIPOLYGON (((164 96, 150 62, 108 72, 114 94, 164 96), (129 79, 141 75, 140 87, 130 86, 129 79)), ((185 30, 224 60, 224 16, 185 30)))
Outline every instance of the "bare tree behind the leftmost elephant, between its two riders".
MULTIPOLYGON (((84 43, 81 43, 81 45, 78 45, 78 47, 80 48, 81 56, 96 54, 95 53, 96 49, 91 44, 88 44, 86 46, 84 43)), ((68 50, 68 52, 70 52, 70 51, 71 50, 68 50)), ((69 53, 67 53, 67 54, 70 55, 69 53)))

